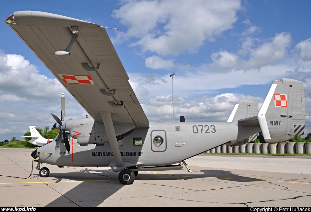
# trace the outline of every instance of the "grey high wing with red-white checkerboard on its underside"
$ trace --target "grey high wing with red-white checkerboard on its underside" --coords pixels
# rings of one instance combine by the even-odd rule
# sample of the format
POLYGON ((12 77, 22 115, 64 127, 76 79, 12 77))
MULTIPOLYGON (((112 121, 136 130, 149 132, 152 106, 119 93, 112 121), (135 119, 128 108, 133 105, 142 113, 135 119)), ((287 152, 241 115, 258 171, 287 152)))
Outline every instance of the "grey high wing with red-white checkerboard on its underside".
POLYGON ((6 19, 8 25, 96 121, 103 120, 100 112, 109 112, 114 124, 149 127, 104 27, 39 11, 17 11, 13 16, 6 19), (70 56, 55 55, 74 35, 78 37, 70 56))

